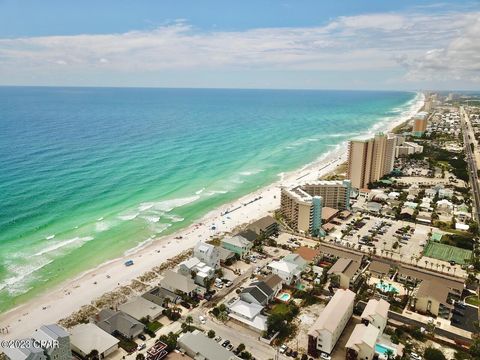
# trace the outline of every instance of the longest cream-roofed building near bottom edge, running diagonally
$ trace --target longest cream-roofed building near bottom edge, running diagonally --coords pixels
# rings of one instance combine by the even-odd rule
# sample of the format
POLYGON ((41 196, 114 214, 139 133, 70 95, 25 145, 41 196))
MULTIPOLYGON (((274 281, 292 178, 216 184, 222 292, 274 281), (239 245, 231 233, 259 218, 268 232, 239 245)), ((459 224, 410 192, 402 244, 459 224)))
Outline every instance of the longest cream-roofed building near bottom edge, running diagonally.
POLYGON ((353 314, 355 293, 339 289, 308 331, 308 354, 330 354, 353 314))

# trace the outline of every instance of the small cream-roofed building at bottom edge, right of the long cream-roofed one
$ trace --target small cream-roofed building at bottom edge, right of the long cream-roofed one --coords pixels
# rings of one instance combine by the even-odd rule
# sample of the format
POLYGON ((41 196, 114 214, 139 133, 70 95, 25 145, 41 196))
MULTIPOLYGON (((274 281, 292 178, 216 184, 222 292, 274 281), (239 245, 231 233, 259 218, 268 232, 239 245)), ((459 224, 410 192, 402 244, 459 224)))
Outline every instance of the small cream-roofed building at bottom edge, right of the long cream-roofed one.
POLYGON ((372 360, 380 330, 373 325, 358 324, 345 345, 347 359, 372 360))

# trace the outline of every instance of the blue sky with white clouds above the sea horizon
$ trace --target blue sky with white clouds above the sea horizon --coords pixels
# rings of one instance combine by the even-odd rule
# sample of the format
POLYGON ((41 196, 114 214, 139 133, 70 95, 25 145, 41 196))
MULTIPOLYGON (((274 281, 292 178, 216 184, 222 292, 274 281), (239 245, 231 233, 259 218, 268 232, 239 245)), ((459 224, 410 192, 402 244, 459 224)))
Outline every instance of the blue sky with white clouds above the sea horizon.
POLYGON ((0 85, 480 90, 480 1, 0 0, 0 85))

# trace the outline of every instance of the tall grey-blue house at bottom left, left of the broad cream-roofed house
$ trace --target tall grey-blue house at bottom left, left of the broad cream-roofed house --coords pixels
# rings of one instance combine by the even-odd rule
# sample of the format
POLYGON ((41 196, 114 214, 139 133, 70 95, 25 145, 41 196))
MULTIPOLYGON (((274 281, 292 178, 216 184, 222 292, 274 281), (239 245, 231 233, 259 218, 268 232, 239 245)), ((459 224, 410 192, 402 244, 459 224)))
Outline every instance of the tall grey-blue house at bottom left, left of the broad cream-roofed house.
POLYGON ((70 334, 59 325, 43 325, 33 332, 32 338, 38 341, 40 344, 48 344, 48 346, 42 346, 48 359, 72 359, 70 334))

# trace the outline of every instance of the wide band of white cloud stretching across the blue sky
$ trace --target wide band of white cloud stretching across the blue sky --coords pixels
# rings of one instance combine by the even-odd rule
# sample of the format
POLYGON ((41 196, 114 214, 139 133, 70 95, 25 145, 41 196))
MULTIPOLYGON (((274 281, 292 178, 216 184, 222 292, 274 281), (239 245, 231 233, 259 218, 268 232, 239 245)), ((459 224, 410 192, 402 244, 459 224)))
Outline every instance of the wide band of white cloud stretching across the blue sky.
POLYGON ((318 27, 213 32, 181 20, 151 31, 0 39, 0 78, 55 73, 61 65, 69 74, 403 69, 407 81, 480 82, 479 19, 474 12, 370 14, 318 27))

